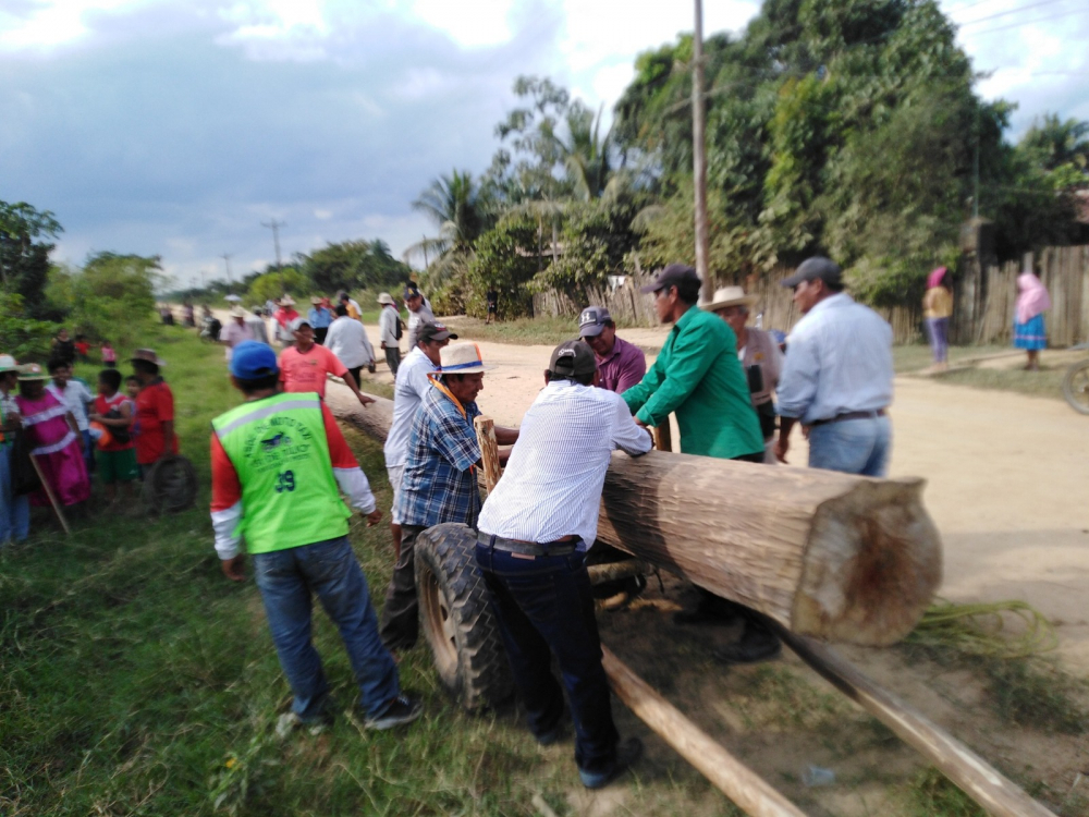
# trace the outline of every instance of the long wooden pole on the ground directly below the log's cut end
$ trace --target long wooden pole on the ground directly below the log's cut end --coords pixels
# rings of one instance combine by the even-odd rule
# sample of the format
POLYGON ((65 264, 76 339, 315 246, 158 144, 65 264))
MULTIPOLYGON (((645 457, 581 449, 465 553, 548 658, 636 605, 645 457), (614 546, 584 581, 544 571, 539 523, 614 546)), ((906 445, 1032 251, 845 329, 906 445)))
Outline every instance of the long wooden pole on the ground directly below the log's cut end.
POLYGON ((882 690, 830 647, 780 629, 783 642, 840 692, 870 712, 993 817, 1055 817, 983 758, 921 712, 882 690))

